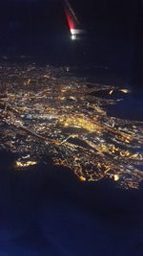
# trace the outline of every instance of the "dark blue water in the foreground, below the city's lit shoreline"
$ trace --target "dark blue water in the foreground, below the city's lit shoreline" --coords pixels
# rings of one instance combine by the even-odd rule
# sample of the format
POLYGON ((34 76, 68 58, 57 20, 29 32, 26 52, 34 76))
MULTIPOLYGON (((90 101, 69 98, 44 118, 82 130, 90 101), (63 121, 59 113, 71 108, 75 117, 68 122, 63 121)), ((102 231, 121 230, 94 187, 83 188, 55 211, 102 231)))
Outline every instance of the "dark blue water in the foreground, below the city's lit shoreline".
POLYGON ((81 183, 51 162, 18 173, 15 156, 0 155, 1 255, 142 255, 141 187, 81 183))

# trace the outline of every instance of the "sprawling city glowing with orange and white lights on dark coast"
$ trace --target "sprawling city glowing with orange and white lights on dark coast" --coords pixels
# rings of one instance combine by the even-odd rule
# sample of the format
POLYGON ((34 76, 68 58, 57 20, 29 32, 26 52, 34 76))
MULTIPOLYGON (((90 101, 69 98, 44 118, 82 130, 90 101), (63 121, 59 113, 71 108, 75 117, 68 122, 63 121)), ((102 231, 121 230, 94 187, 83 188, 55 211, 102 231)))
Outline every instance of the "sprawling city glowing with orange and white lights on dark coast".
POLYGON ((69 67, 0 63, 0 148, 17 152, 15 171, 36 165, 43 154, 81 181, 112 178, 124 188, 143 180, 143 123, 107 115, 121 101, 121 86, 76 78, 69 67), (106 97, 97 97, 103 91, 106 97), (93 95, 94 94, 94 95, 93 95), (112 96, 112 97, 111 97, 112 96))

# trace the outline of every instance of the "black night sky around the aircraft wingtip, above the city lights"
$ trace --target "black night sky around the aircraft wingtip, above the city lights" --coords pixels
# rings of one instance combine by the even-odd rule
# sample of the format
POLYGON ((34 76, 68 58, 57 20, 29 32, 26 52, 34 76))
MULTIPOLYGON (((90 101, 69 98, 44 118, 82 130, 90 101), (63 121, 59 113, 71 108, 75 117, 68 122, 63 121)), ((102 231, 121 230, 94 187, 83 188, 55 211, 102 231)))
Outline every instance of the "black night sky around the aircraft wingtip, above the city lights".
POLYGON ((0 54, 47 56, 56 61, 59 58, 59 62, 62 59, 63 62, 89 61, 128 74, 137 36, 138 2, 72 0, 72 8, 87 31, 87 42, 72 46, 62 1, 1 1, 0 54), (76 60, 72 59, 73 55, 76 60))

